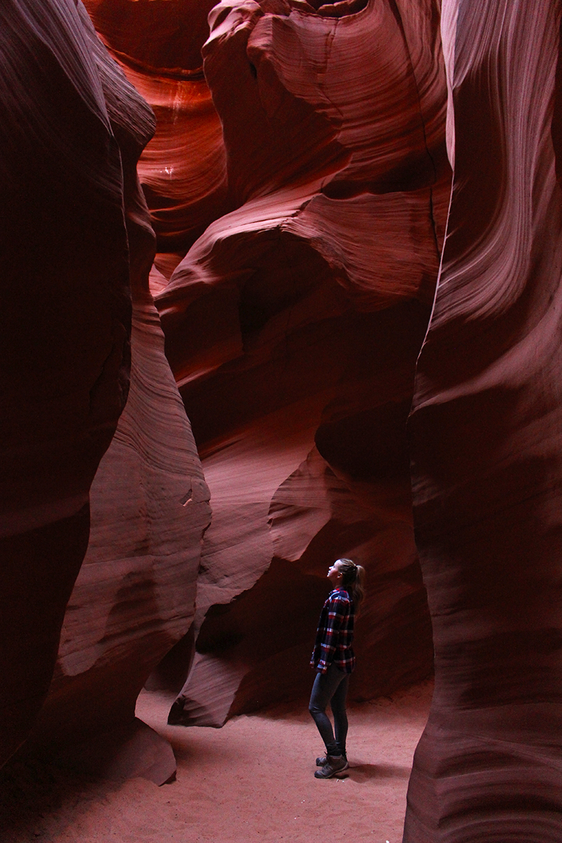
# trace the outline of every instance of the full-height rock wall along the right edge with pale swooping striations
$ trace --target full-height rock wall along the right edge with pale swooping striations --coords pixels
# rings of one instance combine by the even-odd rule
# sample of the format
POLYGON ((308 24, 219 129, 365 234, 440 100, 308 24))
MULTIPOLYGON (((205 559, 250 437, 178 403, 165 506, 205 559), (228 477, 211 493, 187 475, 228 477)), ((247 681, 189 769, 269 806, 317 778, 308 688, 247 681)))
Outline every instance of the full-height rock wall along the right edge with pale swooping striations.
POLYGON ((559 16, 443 3, 454 183, 411 418, 436 690, 407 843, 562 835, 559 16))

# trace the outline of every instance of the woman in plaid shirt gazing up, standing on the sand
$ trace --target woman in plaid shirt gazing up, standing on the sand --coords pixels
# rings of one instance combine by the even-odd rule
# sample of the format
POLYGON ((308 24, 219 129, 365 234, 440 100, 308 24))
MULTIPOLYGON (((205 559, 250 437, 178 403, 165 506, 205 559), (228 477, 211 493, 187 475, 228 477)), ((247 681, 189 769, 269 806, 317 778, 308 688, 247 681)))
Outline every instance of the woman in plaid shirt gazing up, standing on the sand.
POLYGON ((365 569, 351 559, 338 559, 329 568, 328 579, 334 590, 329 593, 320 614, 310 660, 316 668, 316 679, 308 711, 326 747, 325 756, 316 759, 316 764, 321 767, 314 773, 317 779, 329 779, 349 766, 345 754, 345 697, 351 671, 356 665, 352 647, 353 624, 363 599, 365 569), (334 715, 335 733, 326 714, 328 703, 334 715))

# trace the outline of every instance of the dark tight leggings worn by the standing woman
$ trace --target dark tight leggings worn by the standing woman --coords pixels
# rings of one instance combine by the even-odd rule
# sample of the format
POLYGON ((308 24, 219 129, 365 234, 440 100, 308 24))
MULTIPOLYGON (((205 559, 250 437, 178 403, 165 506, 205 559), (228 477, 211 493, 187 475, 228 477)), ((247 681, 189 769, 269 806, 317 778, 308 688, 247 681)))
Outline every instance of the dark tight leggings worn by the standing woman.
POLYGON ((349 682, 350 674, 336 668, 335 664, 330 664, 325 674, 316 674, 316 679, 314 679, 308 711, 313 716, 328 755, 345 754, 345 738, 347 738, 345 697, 349 682), (328 703, 334 715, 335 736, 326 714, 328 703))

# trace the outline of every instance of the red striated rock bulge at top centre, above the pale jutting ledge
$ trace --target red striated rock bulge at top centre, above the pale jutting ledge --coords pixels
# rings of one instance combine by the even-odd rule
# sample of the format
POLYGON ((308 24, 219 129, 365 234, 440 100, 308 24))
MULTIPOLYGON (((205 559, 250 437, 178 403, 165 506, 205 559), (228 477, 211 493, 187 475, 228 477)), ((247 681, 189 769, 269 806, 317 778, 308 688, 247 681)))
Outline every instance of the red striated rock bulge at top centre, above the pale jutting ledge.
POLYGON ((212 10, 205 73, 235 205, 314 175, 345 197, 447 171, 436 4, 409 5, 371 2, 343 19, 264 13, 253 0, 212 10))

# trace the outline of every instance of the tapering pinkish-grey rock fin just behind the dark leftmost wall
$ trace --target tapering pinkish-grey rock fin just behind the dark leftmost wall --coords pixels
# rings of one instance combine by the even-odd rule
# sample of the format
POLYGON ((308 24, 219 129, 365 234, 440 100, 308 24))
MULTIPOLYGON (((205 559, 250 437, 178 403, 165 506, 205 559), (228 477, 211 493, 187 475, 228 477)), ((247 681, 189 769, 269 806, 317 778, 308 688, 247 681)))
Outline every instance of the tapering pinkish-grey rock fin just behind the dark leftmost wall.
MULTIPOLYGON (((126 150, 139 115, 151 120, 152 115, 85 12, 83 19, 110 120, 126 150)), ((209 492, 148 292, 154 235, 136 175, 137 155, 126 150, 122 160, 133 298, 131 388, 92 484, 88 551, 27 751, 78 744, 67 749, 65 760, 76 754, 83 766, 98 758, 105 742, 108 748, 96 764, 162 784, 174 773, 174 755, 166 741, 147 737, 147 727, 134 726, 135 703, 147 676, 190 627, 209 492), (109 734, 102 740, 100 733, 109 734), (92 746, 80 745, 92 735, 92 746)))

